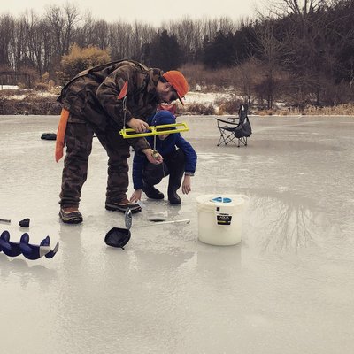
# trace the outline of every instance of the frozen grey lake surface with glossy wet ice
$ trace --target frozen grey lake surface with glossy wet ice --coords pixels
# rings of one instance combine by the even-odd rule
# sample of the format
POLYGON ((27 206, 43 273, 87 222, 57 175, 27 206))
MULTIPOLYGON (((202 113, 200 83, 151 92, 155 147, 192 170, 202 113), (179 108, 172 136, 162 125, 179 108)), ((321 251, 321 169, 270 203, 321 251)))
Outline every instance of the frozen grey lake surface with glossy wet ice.
MULTIPOLYGON (((82 225, 58 219, 58 117, 0 116, 0 232, 50 235, 54 258, 0 253, 1 352, 333 354, 354 348, 354 119, 250 117, 249 146, 220 146, 213 117, 180 117, 198 154, 181 206, 142 200, 126 250, 105 245, 95 139, 82 225), (198 241, 196 197, 244 194, 242 242, 198 241), (138 227, 151 216, 189 224, 138 227), (30 218, 30 227, 19 220, 30 218)), ((132 158, 129 159, 130 164, 132 158)), ((162 183, 165 192, 166 181, 162 183)), ((130 196, 132 189, 129 189, 130 196)))

